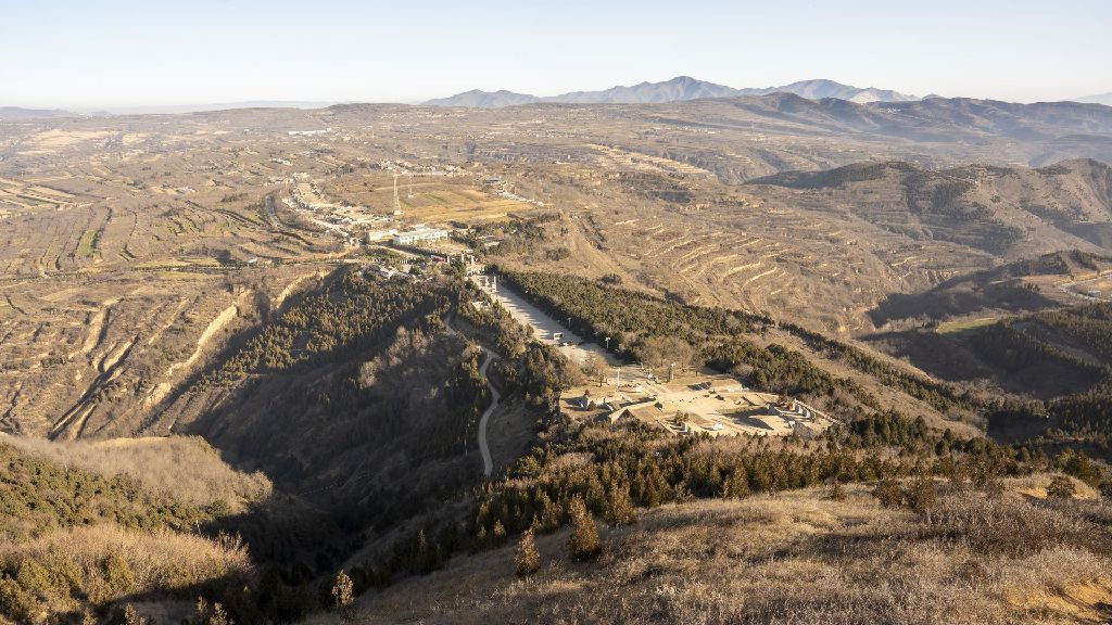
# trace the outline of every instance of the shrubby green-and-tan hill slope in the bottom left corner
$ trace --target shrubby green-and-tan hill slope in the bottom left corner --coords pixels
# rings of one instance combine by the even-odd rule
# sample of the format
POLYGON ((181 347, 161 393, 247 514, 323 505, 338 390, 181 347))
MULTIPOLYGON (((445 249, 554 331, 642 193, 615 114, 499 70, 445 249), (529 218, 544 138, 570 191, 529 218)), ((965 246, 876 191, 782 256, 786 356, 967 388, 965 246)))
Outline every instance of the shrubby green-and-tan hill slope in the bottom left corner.
POLYGON ((241 486, 257 484, 220 466, 207 445, 166 444, 167 459, 181 465, 163 486, 180 486, 183 500, 172 488, 152 487, 150 476, 131 476, 140 466, 175 470, 146 464, 150 454, 129 456, 119 445, 47 448, 3 440, 14 444, 0 444, 0 623, 103 615, 136 597, 193 599, 202 587, 252 574, 238 540, 193 534, 230 512, 227 502, 241 486), (208 483, 211 475, 225 482, 208 483), (188 500, 203 495, 214 499, 203 506, 188 500))

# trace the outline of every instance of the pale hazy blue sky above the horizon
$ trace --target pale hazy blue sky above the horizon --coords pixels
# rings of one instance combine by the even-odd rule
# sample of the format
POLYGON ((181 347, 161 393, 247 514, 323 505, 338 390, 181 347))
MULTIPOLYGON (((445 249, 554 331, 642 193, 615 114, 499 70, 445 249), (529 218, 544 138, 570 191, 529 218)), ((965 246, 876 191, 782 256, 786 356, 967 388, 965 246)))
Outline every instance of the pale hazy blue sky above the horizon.
POLYGON ((0 106, 417 101, 689 75, 924 96, 1112 91, 1110 0, 0 0, 0 106))

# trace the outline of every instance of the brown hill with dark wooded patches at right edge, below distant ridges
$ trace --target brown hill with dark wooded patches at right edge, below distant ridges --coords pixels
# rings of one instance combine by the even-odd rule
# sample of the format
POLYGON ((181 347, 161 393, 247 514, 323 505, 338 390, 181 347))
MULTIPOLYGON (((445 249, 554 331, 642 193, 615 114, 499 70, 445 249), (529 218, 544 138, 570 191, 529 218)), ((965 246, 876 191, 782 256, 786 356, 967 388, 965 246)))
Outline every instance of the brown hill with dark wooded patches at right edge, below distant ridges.
POLYGON ((1048 247, 1108 249, 1112 168, 1063 161, 1043 169, 926 171, 903 162, 854 165, 753 180, 797 191, 793 204, 843 215, 914 240, 955 244, 1004 259, 1048 247))

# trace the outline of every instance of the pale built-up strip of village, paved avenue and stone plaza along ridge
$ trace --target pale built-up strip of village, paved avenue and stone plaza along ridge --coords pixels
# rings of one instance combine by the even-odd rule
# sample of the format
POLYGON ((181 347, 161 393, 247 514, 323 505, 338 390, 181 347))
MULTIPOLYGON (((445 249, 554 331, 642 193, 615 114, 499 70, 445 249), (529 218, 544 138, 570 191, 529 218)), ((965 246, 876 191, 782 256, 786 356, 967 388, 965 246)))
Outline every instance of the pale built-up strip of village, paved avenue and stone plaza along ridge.
MULTIPOLYGON (((371 208, 350 201, 336 204, 326 199, 307 175, 295 173, 288 186, 287 205, 312 224, 332 231, 349 246, 389 249, 404 259, 397 264, 370 267, 385 278, 408 276, 420 260, 446 260, 470 251, 454 235, 466 231, 450 220, 427 225, 411 219, 403 198, 414 197, 408 163, 380 163, 393 173, 393 206, 371 208), (399 179, 404 181, 399 182, 399 179), (417 254, 414 254, 417 252, 417 254), (419 258, 418 258, 419 257, 419 258)), ((418 176, 444 176, 449 172, 421 170, 418 176)), ((486 177, 478 181, 479 191, 488 198, 519 204, 539 204, 513 192, 513 186, 502 178, 486 177)), ((494 241, 496 245, 497 241, 494 241)), ((485 242, 483 245, 486 245, 485 242)), ((474 259, 471 259, 474 260, 474 259)), ((537 310, 518 294, 502 287, 481 266, 468 264, 468 274, 519 323, 532 327, 534 336, 563 351, 575 363, 588 357, 605 361, 614 375, 603 376, 594 384, 565 393, 563 409, 574 418, 600 419, 612 424, 629 420, 658 427, 676 436, 810 436, 835 421, 822 411, 795 398, 747 388, 739 380, 724 375, 696 373, 663 381, 654 371, 641 365, 622 363, 602 346, 575 336, 567 327, 537 310)))

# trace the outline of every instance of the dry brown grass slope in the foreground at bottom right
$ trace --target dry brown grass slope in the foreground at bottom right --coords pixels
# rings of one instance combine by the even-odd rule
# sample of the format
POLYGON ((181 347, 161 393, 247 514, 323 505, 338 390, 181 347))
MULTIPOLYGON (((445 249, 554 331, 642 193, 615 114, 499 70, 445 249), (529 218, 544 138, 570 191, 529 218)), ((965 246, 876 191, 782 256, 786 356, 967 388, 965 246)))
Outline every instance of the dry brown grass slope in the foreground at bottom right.
MULTIPOLYGON (((595 564, 538 538, 364 597, 359 623, 1098 623, 1112 598, 1110 506, 943 495, 930 519, 861 487, 697 502, 613 530, 595 564)), ((327 618, 321 617, 320 622, 327 618)))

